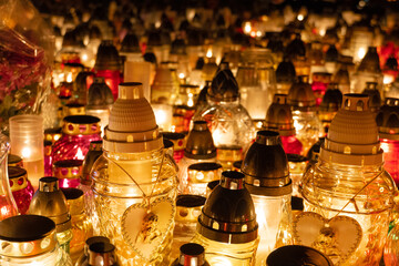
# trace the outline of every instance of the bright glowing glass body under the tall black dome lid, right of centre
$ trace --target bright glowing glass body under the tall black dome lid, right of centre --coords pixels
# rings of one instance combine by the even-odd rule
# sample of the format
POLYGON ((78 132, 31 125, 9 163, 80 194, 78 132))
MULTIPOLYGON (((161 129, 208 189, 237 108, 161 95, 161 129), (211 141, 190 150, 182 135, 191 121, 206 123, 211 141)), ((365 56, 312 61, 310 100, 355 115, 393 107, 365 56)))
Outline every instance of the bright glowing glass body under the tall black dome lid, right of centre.
POLYGON ((277 247, 291 245, 291 195, 279 197, 250 195, 258 223, 259 246, 256 265, 266 265, 267 256, 277 247))

